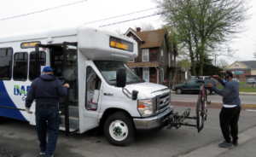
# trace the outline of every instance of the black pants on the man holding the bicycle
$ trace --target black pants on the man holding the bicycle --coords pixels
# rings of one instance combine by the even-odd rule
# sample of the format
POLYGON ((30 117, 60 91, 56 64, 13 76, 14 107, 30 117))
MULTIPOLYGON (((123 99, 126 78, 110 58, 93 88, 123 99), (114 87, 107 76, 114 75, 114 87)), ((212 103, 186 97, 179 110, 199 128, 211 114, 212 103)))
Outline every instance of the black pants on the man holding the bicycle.
POLYGON ((219 113, 220 128, 223 137, 226 142, 231 142, 231 137, 233 142, 237 142, 238 134, 238 119, 240 115, 241 107, 236 106, 235 108, 222 108, 219 113))

